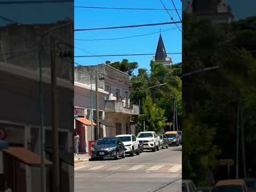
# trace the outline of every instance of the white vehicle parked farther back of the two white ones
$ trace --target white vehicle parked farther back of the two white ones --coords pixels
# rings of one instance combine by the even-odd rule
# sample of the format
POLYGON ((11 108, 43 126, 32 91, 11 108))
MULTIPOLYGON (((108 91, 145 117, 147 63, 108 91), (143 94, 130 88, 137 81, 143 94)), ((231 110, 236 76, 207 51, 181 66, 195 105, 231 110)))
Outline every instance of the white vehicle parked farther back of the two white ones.
POLYGON ((140 132, 137 135, 139 142, 143 143, 144 149, 151 149, 153 152, 159 150, 160 144, 159 139, 155 131, 140 132))

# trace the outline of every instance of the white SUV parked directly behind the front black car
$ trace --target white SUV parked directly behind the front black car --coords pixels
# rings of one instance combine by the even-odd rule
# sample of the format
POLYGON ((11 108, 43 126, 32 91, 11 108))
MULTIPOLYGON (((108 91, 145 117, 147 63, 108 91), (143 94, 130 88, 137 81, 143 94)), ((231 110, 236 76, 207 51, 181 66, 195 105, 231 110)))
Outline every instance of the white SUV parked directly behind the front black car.
POLYGON ((136 155, 140 155, 139 142, 134 135, 123 134, 116 135, 116 137, 120 138, 120 140, 124 143, 125 153, 130 154, 130 156, 133 156, 134 153, 136 155))

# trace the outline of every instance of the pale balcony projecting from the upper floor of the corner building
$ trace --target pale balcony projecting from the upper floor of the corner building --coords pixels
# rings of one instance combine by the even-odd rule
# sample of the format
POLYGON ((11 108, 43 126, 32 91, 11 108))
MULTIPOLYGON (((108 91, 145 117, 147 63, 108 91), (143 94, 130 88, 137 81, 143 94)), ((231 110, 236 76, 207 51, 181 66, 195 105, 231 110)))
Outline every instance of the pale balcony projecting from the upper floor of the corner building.
POLYGON ((128 106, 125 105, 125 102, 123 101, 106 101, 105 111, 112 113, 139 115, 139 105, 131 104, 130 106, 128 106))

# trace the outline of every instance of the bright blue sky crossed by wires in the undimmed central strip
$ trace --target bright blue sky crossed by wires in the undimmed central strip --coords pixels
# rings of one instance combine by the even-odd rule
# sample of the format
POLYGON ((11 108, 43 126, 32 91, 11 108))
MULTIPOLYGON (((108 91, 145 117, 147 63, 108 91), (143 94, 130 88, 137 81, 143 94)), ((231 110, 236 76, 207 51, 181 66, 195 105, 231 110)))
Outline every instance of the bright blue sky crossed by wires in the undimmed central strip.
MULTIPOLYGON (((171 1, 163 0, 165 6, 173 9, 171 1)), ((181 9, 180 0, 174 0, 177 9, 181 9)), ((105 6, 105 7, 136 7, 136 8, 157 8, 163 9, 159 0, 145 1, 123 1, 123 0, 98 0, 98 1, 81 1, 76 0, 75 6, 105 6)), ((179 11, 181 15, 181 11, 179 11)), ((175 21, 179 21, 177 13, 170 11, 175 21)), ((140 25, 145 23, 170 22, 170 16, 165 11, 125 11, 125 10, 101 10, 101 9, 82 9, 75 8, 75 29, 81 28, 99 28, 140 25)), ((179 24, 181 26, 181 23, 179 24)), ((175 25, 141 27, 130 29, 111 29, 111 30, 93 30, 75 32, 75 39, 102 39, 118 38, 133 35, 142 35, 154 33, 161 30, 175 28, 175 25)), ((172 29, 162 32, 162 37, 166 52, 181 52, 181 32, 179 29, 172 29)), ((111 41, 75 41, 75 46, 86 50, 94 55, 102 54, 132 54, 132 53, 155 53, 158 43, 159 33, 118 39, 111 41)), ((75 55, 90 55, 84 51, 75 49, 75 55)), ((174 63, 181 61, 180 55, 169 55, 174 63)), ((97 65, 106 60, 137 61, 139 68, 150 69, 149 63, 153 55, 146 56, 129 56, 129 57, 104 57, 104 58, 75 58, 75 61, 81 65, 97 65)))

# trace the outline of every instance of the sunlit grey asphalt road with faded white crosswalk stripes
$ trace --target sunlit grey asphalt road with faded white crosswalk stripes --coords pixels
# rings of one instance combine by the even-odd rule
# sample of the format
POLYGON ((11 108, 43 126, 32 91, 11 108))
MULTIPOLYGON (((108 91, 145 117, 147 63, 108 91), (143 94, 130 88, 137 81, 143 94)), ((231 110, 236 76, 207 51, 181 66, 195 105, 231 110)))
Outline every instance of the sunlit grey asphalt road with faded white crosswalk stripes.
POLYGON ((75 164, 75 192, 181 191, 182 147, 75 164))

